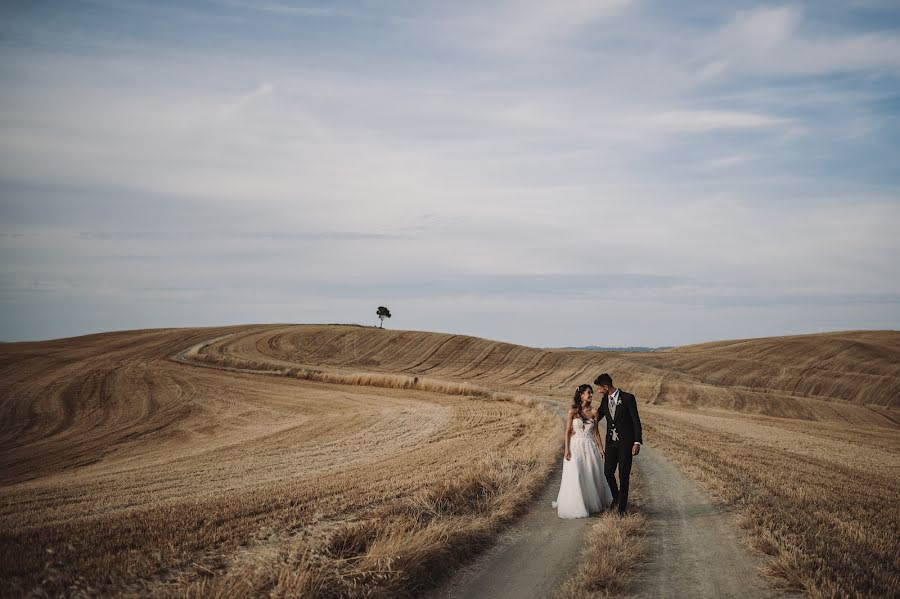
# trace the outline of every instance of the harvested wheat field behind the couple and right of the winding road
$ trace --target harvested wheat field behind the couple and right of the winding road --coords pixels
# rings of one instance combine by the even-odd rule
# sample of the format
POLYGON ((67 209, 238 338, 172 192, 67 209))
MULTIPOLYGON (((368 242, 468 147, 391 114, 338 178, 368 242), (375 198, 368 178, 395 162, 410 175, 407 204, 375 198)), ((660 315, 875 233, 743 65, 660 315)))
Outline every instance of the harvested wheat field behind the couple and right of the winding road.
POLYGON ((898 332, 638 354, 378 334, 372 342, 358 327, 275 329, 221 339, 198 357, 299 365, 307 369, 301 376, 319 376, 317 367, 342 376, 390 372, 555 397, 612 372, 648 404, 647 442, 738 510, 757 548, 771 556, 767 573, 776 586, 817 597, 900 594, 898 332), (853 564, 844 567, 849 558, 838 554, 853 555, 853 564))

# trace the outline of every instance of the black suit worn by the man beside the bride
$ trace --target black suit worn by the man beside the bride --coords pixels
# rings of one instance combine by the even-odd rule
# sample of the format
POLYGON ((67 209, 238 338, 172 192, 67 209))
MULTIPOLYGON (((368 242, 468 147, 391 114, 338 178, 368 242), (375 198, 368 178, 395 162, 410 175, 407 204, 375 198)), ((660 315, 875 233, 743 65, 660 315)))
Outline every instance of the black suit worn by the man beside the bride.
MULTIPOLYGON (((631 478, 631 448, 635 443, 643 443, 641 436, 641 418, 637 413, 637 400, 634 395, 619 389, 619 405, 615 417, 610 416, 609 396, 604 395, 600 402, 598 420, 606 418, 606 461, 603 473, 613 493, 613 499, 619 501, 619 512, 628 507, 628 482, 631 478), (618 433, 618 440, 613 440, 613 431, 618 433), (619 468, 619 484, 616 484, 616 467, 619 468)), ((598 423, 599 424, 599 423, 598 423)))

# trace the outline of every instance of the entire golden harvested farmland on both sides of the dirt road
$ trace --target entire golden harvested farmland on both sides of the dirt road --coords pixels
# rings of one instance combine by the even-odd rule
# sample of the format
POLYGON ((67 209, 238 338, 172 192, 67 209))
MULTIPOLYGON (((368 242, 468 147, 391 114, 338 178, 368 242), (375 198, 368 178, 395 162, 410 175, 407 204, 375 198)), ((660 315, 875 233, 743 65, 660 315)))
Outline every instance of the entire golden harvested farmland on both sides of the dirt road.
POLYGON ((900 594, 900 333, 627 354, 245 325, 0 355, 4 595, 414 594, 558 459, 559 421, 523 397, 603 371, 780 584, 900 594))

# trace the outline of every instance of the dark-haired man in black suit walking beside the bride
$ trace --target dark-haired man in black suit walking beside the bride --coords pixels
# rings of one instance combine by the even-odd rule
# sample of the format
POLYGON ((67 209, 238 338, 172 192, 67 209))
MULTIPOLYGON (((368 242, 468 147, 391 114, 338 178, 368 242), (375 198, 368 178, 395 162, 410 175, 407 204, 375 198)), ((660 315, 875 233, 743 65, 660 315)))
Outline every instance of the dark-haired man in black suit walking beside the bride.
POLYGON ((628 507, 628 481, 631 478, 631 458, 641 451, 641 418, 637 413, 634 395, 612 384, 612 377, 603 373, 594 379, 597 390, 603 391, 600 401, 600 419, 606 417, 606 462, 604 474, 613 493, 613 503, 619 503, 619 515, 625 515, 628 507), (619 468, 619 484, 616 484, 616 467, 619 468))

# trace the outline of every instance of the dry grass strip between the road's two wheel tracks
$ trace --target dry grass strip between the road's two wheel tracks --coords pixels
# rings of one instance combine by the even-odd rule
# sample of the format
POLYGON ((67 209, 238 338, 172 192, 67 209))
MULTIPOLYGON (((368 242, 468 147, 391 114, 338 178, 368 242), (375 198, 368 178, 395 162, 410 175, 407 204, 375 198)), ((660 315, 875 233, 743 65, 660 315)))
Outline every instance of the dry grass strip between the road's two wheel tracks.
POLYGON ((629 514, 604 512, 588 530, 575 574, 559 593, 566 599, 612 599, 624 596, 649 559, 649 524, 641 513, 640 472, 632 471, 629 514))

